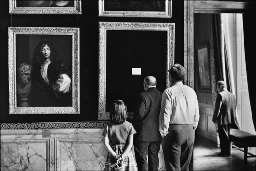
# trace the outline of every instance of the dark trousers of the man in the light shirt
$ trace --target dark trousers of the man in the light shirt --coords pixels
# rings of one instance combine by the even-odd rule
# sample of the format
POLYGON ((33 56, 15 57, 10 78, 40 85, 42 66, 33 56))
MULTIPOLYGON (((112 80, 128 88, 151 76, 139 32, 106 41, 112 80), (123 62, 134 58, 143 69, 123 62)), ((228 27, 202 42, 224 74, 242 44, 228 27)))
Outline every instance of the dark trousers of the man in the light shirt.
POLYGON ((166 170, 189 170, 195 141, 193 124, 170 124, 168 132, 162 140, 166 170))

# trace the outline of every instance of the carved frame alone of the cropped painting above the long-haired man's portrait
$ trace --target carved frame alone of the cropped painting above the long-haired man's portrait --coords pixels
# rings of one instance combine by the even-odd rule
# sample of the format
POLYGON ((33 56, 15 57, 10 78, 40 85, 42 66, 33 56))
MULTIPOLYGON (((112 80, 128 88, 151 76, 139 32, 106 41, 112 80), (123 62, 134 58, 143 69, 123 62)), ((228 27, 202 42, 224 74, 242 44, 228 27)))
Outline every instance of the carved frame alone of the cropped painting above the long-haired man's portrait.
POLYGON ((17 0, 9 0, 9 14, 82 14, 82 0, 74 0, 74 7, 17 7, 17 0))

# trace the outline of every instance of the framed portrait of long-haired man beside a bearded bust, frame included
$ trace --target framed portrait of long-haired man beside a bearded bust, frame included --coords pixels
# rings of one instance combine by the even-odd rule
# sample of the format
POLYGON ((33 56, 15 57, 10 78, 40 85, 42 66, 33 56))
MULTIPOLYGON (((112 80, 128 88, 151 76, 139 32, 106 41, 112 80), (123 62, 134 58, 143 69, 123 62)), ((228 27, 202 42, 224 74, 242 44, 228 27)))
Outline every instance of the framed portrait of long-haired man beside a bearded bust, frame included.
POLYGON ((78 114, 79 28, 8 27, 9 114, 78 114))

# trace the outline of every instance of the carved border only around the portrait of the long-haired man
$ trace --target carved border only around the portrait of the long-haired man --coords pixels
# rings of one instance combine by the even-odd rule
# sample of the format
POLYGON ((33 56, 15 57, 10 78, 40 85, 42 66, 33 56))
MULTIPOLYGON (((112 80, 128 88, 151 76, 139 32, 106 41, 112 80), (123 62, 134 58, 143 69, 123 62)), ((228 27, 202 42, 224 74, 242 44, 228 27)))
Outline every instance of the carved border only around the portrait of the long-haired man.
POLYGON ((78 114, 79 89, 79 28, 8 27, 9 114, 78 114), (16 98, 16 35, 71 35, 72 36, 72 106, 17 107, 16 98))

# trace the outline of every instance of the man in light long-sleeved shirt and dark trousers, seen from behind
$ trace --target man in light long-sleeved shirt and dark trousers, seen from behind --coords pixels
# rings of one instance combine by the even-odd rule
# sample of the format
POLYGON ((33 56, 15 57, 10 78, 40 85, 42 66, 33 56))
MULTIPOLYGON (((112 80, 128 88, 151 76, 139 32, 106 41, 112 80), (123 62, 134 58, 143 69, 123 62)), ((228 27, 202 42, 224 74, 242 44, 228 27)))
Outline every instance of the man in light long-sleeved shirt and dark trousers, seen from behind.
POLYGON ((180 64, 171 66, 171 87, 163 92, 159 115, 160 134, 166 170, 189 170, 199 121, 196 92, 183 85, 185 68, 180 64))

